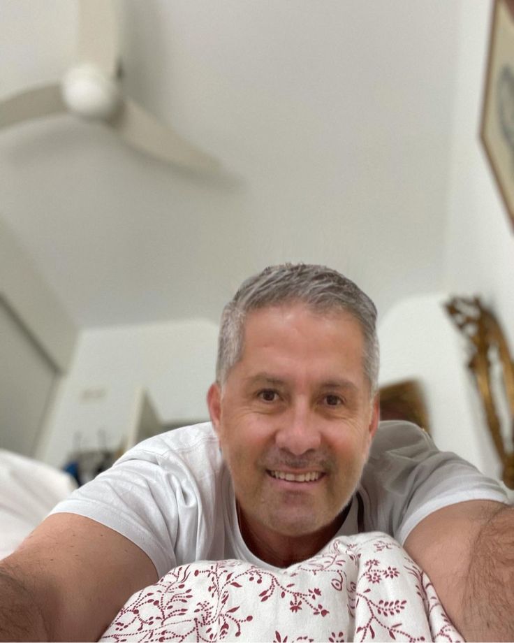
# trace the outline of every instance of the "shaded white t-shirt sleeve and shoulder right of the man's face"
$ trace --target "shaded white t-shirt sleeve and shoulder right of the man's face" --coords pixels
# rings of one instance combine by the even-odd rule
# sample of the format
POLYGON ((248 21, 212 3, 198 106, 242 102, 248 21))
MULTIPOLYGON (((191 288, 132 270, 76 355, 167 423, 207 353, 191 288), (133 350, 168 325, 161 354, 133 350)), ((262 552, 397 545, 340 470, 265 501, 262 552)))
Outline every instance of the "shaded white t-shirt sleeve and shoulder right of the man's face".
POLYGON ((361 481, 365 527, 390 533, 404 544, 426 516, 467 500, 508 503, 499 483, 409 422, 383 422, 361 481))

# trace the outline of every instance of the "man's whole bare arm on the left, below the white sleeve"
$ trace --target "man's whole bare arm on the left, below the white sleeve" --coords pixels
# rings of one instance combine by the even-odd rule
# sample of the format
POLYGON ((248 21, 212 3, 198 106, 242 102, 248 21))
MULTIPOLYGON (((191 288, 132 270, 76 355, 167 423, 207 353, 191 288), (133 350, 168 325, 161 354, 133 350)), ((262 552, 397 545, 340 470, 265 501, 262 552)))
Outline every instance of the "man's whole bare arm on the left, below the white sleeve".
POLYGON ((0 562, 0 640, 96 641, 127 598, 157 578, 126 537, 53 514, 0 562))

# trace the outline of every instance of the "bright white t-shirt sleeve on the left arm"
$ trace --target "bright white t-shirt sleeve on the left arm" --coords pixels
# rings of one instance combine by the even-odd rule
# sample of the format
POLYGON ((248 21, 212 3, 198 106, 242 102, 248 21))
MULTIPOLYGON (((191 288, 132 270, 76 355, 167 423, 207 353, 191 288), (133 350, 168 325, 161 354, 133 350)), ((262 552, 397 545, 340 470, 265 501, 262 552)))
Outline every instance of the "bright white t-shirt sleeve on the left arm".
POLYGON ((133 450, 52 513, 80 514, 124 535, 145 551, 161 577, 184 557, 177 548, 189 539, 179 541, 179 532, 194 543, 202 504, 196 481, 179 458, 133 450))

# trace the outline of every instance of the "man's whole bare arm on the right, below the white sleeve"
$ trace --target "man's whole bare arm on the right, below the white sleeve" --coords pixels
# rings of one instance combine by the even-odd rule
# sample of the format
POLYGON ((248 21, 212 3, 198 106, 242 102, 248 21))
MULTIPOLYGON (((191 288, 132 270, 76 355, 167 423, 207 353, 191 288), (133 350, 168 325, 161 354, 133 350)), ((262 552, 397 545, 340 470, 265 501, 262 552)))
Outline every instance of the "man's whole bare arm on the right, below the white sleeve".
POLYGON ((434 512, 406 551, 467 641, 514 640, 514 508, 470 500, 434 512))

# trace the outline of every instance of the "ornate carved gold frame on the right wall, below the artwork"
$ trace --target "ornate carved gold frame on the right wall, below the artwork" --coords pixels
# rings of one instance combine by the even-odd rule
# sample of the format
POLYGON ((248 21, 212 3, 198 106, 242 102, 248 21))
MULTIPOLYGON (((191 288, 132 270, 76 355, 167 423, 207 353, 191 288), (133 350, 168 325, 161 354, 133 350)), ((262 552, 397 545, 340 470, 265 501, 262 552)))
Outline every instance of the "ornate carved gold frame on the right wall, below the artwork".
POLYGON ((505 443, 504 435, 507 431, 501 431, 491 379, 492 368, 499 363, 510 412, 509 433, 514 440, 514 363, 504 333, 494 314, 485 308, 479 297, 453 297, 446 303, 446 310, 469 340, 471 357, 467 366, 475 377, 487 426, 503 465, 502 478, 509 489, 514 489, 514 449, 512 445, 508 446, 505 443))

